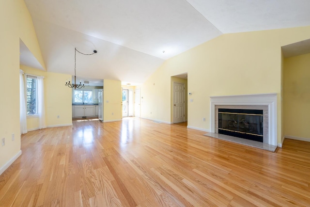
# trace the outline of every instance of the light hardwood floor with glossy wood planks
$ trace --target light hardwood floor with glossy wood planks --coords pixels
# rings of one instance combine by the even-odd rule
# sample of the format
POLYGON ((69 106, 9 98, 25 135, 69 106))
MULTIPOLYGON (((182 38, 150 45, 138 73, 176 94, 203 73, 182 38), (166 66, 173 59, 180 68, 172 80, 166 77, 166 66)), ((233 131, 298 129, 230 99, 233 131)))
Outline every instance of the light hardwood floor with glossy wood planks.
POLYGON ((276 153, 139 118, 22 135, 0 206, 310 206, 310 143, 276 153))

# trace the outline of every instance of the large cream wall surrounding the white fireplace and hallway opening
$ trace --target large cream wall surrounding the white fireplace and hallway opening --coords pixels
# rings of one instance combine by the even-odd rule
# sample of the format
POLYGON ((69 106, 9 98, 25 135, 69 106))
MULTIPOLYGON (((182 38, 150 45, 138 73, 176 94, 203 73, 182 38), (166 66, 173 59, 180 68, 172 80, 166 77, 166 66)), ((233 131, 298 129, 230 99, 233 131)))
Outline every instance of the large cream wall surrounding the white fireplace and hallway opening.
POLYGON ((141 86, 141 117, 170 122, 170 77, 187 72, 193 99, 188 103, 189 127, 211 131, 210 96, 277 93, 281 143, 281 46, 308 38, 310 27, 223 34, 181 53, 167 60, 141 86))

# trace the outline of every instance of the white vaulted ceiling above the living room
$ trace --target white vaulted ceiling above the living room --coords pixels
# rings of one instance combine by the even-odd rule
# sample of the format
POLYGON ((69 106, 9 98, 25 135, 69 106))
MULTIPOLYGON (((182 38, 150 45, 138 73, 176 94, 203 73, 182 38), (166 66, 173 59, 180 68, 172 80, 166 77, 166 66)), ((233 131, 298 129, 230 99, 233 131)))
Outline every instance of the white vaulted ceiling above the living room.
POLYGON ((73 75, 74 48, 83 53, 98 51, 91 56, 77 53, 77 76, 85 80, 142 83, 166 59, 222 33, 310 25, 310 0, 25 0, 25 3, 47 71, 73 75))

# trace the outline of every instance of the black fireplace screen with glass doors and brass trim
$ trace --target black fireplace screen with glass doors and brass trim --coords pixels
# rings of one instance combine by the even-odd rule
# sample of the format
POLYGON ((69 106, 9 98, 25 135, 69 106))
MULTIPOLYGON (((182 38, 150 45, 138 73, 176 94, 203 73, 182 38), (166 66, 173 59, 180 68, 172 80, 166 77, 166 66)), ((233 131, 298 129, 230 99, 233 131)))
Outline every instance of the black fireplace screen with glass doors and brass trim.
POLYGON ((218 133, 263 142, 263 110, 218 109, 218 133))

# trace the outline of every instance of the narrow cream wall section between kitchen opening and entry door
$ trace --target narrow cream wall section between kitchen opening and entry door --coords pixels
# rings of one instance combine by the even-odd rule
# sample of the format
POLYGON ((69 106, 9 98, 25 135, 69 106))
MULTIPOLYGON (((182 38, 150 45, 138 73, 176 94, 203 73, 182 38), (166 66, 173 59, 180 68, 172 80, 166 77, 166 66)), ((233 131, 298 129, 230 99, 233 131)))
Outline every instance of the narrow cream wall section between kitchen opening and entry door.
POLYGON ((103 121, 122 119, 122 86, 119 80, 103 80, 103 121))

